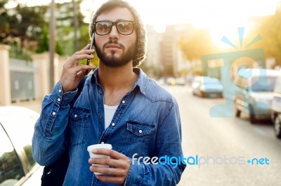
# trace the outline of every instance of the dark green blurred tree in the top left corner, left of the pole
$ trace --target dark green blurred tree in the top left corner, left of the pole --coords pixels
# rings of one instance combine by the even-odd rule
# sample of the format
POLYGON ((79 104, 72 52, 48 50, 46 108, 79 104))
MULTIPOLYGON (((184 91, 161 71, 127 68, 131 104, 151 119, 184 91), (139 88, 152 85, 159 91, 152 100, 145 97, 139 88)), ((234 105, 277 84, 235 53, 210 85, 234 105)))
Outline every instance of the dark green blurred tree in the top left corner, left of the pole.
POLYGON ((11 45, 11 57, 30 59, 30 52, 37 48, 42 28, 46 25, 44 14, 47 6, 27 7, 18 4, 5 8, 0 0, 0 43, 11 45))

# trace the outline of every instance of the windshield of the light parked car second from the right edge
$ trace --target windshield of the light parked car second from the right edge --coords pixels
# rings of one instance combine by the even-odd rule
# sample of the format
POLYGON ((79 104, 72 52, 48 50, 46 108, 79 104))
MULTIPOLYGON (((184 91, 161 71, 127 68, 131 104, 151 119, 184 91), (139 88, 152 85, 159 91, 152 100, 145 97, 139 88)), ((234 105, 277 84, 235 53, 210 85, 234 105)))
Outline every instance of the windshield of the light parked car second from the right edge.
POLYGON ((277 77, 256 77, 252 79, 254 85, 251 90, 254 92, 273 92, 277 77))

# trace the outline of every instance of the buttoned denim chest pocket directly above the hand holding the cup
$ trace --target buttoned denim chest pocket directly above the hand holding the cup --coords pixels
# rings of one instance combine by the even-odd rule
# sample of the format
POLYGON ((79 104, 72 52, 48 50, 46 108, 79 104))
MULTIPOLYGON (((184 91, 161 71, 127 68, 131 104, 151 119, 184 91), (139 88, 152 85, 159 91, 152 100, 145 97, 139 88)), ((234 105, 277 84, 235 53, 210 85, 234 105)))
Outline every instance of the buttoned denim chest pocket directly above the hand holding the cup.
POLYGON ((149 124, 145 122, 127 121, 126 130, 122 139, 141 142, 151 143, 154 141, 156 124, 149 124))

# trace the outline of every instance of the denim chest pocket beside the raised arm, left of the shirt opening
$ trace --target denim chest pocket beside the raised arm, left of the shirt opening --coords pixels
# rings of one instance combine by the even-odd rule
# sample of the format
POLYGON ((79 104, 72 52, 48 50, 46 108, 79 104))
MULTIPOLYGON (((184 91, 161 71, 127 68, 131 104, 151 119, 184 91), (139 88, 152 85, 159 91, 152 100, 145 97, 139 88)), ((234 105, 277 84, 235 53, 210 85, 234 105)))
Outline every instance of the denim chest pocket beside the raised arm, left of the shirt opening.
POLYGON ((70 110, 69 131, 72 145, 85 143, 88 136, 90 110, 86 108, 72 108, 70 110))

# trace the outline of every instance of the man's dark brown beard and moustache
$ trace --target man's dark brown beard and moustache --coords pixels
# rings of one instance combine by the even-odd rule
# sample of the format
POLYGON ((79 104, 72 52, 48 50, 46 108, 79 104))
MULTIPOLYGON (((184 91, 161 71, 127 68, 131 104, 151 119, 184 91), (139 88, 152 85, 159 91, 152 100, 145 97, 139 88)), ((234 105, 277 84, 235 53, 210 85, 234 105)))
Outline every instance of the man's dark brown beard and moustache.
POLYGON ((125 52, 124 45, 113 41, 105 43, 105 45, 103 45, 103 50, 96 46, 96 54, 98 55, 100 62, 105 64, 105 66, 110 67, 119 67, 128 64, 133 59, 134 51, 136 51, 134 45, 129 46, 128 50, 125 52), (117 57, 115 55, 116 51, 111 51, 109 55, 105 55, 104 49, 108 44, 118 45, 123 50, 122 55, 120 57, 117 57))

